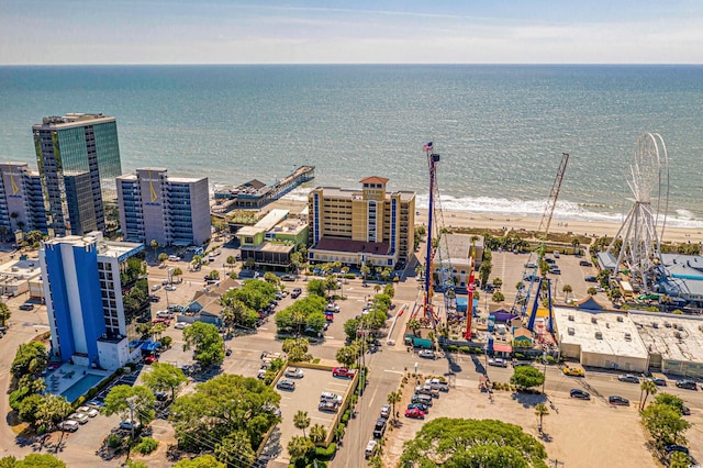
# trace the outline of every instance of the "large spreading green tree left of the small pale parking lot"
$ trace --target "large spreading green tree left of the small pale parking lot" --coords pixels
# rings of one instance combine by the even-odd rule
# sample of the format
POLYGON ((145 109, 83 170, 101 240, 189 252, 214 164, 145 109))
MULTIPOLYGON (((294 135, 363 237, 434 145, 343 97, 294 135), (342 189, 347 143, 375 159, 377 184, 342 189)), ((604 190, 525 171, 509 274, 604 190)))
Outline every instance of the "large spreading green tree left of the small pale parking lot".
POLYGON ((179 447, 189 452, 212 449, 208 441, 222 441, 244 431, 255 450, 267 431, 280 421, 280 394, 260 380, 223 374, 199 383, 171 404, 169 420, 179 447))

